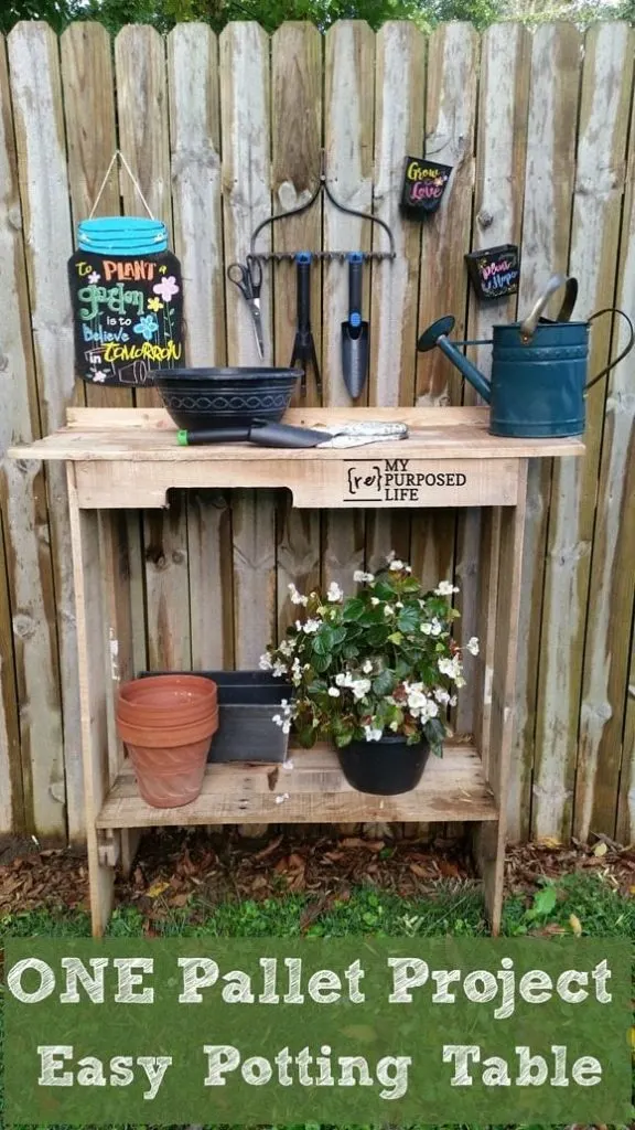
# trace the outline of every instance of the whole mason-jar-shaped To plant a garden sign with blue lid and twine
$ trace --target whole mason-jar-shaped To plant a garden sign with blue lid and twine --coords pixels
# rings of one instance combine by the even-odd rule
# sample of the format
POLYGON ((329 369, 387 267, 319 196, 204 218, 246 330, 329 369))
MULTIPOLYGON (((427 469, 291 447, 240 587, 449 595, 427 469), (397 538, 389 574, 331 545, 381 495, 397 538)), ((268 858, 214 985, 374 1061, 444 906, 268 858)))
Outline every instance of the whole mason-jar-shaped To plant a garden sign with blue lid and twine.
POLYGON ((78 251, 69 260, 76 368, 93 384, 142 386, 151 384, 153 370, 184 363, 183 280, 165 224, 151 216, 121 154, 104 184, 118 156, 148 218, 92 215, 78 226, 78 251))

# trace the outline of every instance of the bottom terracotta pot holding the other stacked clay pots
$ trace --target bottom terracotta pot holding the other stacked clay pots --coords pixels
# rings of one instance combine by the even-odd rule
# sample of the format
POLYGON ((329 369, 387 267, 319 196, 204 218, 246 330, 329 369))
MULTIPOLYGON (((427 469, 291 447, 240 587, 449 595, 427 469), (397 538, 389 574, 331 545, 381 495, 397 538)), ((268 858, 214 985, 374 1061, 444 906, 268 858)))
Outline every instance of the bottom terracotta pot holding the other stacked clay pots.
POLYGON ((130 725, 116 721, 134 768, 139 792, 154 808, 181 808, 199 796, 218 709, 181 730, 130 725))

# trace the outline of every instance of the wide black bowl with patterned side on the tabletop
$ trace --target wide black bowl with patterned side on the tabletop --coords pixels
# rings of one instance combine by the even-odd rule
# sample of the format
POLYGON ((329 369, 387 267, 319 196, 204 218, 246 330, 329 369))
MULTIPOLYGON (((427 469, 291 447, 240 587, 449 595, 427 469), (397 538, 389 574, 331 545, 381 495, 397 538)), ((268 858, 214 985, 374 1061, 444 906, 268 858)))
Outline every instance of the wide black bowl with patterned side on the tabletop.
POLYGON ((177 427, 251 427, 277 424, 301 376, 298 368, 163 368, 153 374, 177 427))

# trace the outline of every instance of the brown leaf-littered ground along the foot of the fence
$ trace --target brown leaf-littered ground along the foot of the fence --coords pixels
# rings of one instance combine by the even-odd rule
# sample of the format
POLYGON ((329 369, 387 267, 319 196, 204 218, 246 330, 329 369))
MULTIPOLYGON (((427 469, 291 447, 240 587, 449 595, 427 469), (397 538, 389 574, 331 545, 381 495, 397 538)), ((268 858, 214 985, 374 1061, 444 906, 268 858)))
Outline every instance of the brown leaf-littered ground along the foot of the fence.
MULTIPOLYGON (((589 845, 547 840, 511 846, 506 892, 529 895, 545 878, 586 869, 601 873, 623 894, 635 893, 635 845, 606 837, 589 845)), ((164 909, 183 907, 192 895, 214 904, 306 892, 320 903, 362 883, 416 897, 433 893, 440 879, 456 887, 477 883, 466 841, 327 836, 306 829, 253 841, 236 829, 210 835, 205 829, 171 828, 143 837, 132 875, 118 878, 116 898, 151 919, 159 895, 164 909)), ((45 846, 29 837, 0 841, 0 916, 64 906, 88 909, 84 850, 45 846)))

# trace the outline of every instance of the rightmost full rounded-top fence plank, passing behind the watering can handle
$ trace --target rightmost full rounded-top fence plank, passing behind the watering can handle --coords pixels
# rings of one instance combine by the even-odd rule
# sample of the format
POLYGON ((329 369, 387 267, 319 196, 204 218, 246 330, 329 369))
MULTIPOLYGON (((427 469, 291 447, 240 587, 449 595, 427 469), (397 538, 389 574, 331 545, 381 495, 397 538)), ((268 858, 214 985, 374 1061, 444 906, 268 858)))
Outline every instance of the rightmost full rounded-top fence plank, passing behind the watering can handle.
MULTIPOLYGON (((579 279, 576 318, 614 296, 632 85, 625 24, 600 24, 585 40, 569 272, 579 279)), ((593 328, 589 372, 609 354, 610 319, 593 328)), ((533 832, 572 827, 584 621, 603 426, 606 379, 586 400, 586 455, 555 464, 540 649, 533 832)), ((593 594, 591 593, 591 599, 593 594)), ((601 646, 601 643, 600 643, 601 646)))

